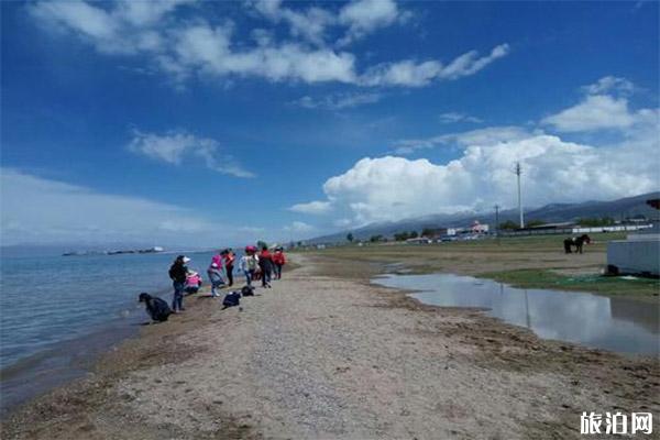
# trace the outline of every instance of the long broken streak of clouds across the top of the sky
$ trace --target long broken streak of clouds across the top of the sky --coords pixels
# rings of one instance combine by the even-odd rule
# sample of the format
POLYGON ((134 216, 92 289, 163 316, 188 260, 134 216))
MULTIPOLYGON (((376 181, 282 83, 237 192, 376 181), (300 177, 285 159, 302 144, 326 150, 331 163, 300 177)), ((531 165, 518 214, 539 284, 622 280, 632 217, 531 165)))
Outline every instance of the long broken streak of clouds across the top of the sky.
POLYGON ((178 87, 195 76, 420 87, 473 75, 508 53, 508 45, 503 44, 484 57, 466 52, 447 66, 439 61, 400 61, 367 67, 361 74, 354 54, 324 43, 326 30, 330 24, 342 25, 351 40, 388 25, 405 15, 391 0, 356 0, 338 13, 318 7, 294 10, 279 1, 252 2, 267 21, 286 22, 292 36, 276 41, 275 32, 258 29, 252 33, 254 44, 237 42, 230 21, 211 22, 208 14, 184 20, 175 12, 186 3, 125 0, 100 6, 72 0, 40 1, 29 8, 45 28, 74 34, 100 53, 145 59, 148 68, 164 73, 178 87))

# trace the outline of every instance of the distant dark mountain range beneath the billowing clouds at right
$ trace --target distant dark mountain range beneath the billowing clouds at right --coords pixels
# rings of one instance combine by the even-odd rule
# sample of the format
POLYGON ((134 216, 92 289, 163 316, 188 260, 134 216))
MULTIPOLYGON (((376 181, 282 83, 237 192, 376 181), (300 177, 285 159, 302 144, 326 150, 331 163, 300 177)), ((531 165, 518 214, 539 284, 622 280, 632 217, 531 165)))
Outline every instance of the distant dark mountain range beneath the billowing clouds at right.
MULTIPOLYGON (((541 208, 526 210, 525 219, 526 221, 541 220, 548 223, 593 217, 612 217, 615 220, 623 220, 640 215, 649 219, 658 219, 660 211, 646 204, 648 199, 652 198, 660 198, 660 193, 648 193, 610 201, 590 200, 580 204, 550 204, 541 208)), ((452 215, 432 215, 399 221, 371 223, 354 230, 317 237, 306 240, 306 242, 310 244, 341 242, 345 241, 349 232, 353 234, 355 240, 369 240, 373 235, 392 237, 403 231, 421 232, 425 228, 469 227, 474 220, 479 220, 481 223, 495 224, 495 212, 457 212, 452 215)), ((518 211, 516 209, 501 211, 499 222, 502 223, 507 220, 517 222, 518 211)))

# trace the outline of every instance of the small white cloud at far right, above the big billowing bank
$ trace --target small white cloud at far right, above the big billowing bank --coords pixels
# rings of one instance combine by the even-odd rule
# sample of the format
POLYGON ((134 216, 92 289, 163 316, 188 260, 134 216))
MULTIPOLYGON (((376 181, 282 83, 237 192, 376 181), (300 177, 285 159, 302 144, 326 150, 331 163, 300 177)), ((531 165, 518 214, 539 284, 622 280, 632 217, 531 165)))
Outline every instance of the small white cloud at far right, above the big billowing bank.
POLYGON ((636 118, 628 109, 626 98, 591 95, 579 105, 549 116, 541 122, 561 132, 581 132, 627 129, 636 122, 636 118))

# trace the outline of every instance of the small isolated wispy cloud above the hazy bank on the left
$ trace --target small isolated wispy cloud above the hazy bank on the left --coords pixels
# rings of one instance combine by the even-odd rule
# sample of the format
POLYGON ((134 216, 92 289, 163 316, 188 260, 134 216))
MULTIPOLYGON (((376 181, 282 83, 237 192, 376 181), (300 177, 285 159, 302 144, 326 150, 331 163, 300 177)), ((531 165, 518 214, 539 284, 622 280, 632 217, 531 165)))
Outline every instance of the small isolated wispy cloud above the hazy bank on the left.
POLYGON ((134 131, 129 150, 173 165, 201 161, 207 168, 218 173, 237 177, 254 177, 254 174, 243 169, 231 156, 220 155, 217 141, 197 138, 186 132, 168 132, 160 135, 134 131))

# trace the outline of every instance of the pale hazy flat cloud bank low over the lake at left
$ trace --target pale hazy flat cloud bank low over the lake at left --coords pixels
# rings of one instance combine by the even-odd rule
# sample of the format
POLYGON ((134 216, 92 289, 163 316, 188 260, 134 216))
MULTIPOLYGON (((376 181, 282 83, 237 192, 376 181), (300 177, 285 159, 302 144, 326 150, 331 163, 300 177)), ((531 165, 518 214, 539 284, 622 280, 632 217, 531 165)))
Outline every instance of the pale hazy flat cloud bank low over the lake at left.
POLYGON ((0 168, 2 244, 153 242, 178 244, 217 226, 185 208, 100 194, 12 168, 0 168))

